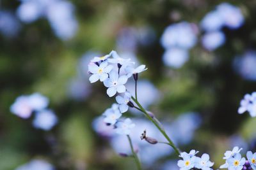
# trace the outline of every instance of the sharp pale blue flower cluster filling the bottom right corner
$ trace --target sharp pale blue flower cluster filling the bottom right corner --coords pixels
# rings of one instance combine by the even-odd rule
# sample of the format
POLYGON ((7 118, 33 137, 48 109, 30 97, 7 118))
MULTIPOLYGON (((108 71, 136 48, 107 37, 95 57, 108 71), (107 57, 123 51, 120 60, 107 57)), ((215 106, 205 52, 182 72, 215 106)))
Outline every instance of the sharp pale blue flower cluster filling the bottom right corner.
POLYGON ((220 168, 236 169, 236 170, 246 170, 246 169, 256 169, 256 153, 252 153, 251 151, 247 152, 246 160, 241 156, 240 151, 243 148, 238 148, 235 146, 232 151, 227 151, 224 153, 225 157, 223 159, 226 160, 225 164, 220 166, 220 168))

